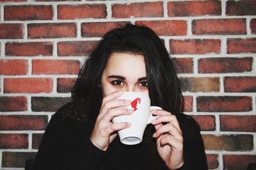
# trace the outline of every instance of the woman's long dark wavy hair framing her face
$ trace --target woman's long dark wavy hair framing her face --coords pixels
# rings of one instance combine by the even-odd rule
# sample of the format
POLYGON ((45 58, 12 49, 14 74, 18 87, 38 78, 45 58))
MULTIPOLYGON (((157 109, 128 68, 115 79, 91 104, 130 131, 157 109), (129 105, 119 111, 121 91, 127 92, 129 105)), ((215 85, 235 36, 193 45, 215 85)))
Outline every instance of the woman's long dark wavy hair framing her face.
POLYGON ((145 26, 127 24, 113 29, 102 37, 81 66, 76 84, 72 88, 72 100, 84 105, 89 120, 97 118, 102 103, 99 88, 102 72, 109 56, 115 52, 142 54, 145 59, 148 94, 152 105, 177 114, 184 109, 184 98, 173 59, 162 40, 145 26))

